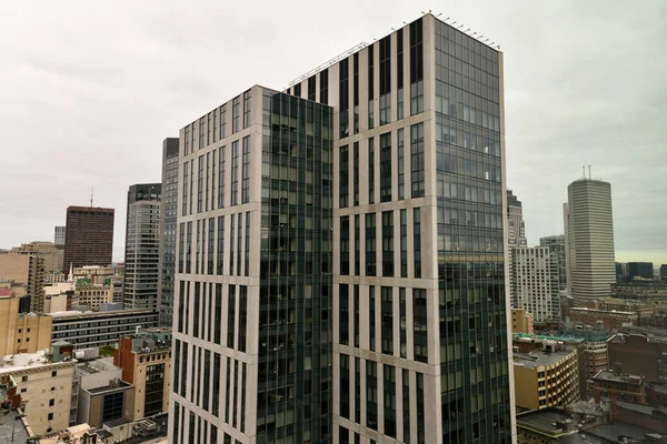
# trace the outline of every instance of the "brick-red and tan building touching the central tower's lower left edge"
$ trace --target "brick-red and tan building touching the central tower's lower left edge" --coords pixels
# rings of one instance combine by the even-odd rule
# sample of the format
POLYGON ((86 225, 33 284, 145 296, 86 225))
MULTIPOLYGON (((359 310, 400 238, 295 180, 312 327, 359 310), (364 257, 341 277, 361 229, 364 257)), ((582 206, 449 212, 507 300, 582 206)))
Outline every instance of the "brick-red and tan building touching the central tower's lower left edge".
POLYGON ((140 329, 121 336, 113 364, 122 367, 122 380, 136 387, 132 420, 169 410, 171 329, 140 329))

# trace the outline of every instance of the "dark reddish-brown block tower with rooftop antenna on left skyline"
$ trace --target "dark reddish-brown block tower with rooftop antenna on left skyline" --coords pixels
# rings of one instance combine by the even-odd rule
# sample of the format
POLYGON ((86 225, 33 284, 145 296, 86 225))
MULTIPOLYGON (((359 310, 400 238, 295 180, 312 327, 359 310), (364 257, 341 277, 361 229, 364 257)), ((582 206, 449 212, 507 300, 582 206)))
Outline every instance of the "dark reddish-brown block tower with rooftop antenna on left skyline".
POLYGON ((113 209, 68 206, 64 269, 109 265, 113 249, 113 209))

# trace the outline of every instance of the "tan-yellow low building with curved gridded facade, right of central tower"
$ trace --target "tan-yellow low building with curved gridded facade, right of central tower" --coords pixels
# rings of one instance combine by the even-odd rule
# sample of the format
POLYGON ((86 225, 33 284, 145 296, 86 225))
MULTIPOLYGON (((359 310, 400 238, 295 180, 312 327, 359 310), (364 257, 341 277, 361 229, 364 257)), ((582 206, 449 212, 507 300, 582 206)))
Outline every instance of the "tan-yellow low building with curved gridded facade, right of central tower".
POLYGON ((555 341, 539 350, 514 350, 516 405, 536 410, 564 405, 579 398, 578 351, 555 341))

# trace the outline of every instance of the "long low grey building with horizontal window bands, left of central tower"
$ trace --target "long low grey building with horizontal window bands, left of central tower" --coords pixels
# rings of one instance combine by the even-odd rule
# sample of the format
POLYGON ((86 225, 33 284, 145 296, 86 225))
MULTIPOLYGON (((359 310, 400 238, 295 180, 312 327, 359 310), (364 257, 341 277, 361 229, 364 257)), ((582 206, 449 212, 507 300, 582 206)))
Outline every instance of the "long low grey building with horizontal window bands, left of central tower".
POLYGON ((135 333, 137 327, 158 326, 158 313, 151 310, 68 311, 51 316, 51 340, 70 342, 76 349, 116 345, 120 336, 135 333))

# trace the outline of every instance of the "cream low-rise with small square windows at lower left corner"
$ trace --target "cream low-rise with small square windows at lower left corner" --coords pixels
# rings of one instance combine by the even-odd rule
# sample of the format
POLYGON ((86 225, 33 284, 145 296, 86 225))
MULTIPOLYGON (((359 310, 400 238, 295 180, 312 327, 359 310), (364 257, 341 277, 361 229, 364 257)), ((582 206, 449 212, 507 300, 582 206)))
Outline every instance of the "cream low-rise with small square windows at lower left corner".
POLYGON ((33 434, 69 426, 74 360, 53 362, 50 353, 16 354, 0 360, 0 377, 11 376, 33 434))

